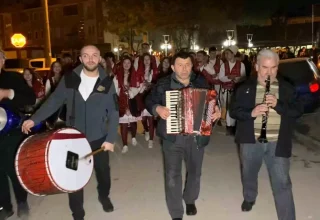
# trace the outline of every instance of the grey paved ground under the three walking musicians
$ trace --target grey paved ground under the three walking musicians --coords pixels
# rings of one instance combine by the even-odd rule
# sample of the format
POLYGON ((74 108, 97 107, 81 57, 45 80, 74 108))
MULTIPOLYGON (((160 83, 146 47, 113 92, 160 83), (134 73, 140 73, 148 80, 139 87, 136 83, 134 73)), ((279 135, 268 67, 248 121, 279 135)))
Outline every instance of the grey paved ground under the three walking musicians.
MULTIPOLYGON (((121 154, 120 138, 116 150, 110 154, 113 213, 104 213, 97 199, 96 180, 92 176, 85 187, 85 220, 170 220, 165 204, 163 163, 159 140, 148 149, 143 135, 138 145, 129 143, 129 152, 121 154)), ((320 166, 307 160, 313 152, 295 144, 291 163, 293 193, 297 220, 319 220, 320 166)), ((265 165, 259 174, 259 196, 252 212, 243 213, 243 200, 237 147, 232 137, 217 127, 205 150, 201 192, 197 201, 198 215, 184 220, 275 220, 276 211, 265 165)), ((71 220, 66 194, 46 197, 29 196, 29 220, 71 220)), ((10 220, 19 220, 16 216, 10 220)))

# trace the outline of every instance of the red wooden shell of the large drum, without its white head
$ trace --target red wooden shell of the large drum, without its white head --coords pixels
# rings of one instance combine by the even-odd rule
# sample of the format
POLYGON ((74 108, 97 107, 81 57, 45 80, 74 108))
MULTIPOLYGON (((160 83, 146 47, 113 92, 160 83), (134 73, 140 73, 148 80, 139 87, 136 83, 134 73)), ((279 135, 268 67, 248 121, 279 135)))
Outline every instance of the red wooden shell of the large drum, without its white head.
MULTIPOLYGON (((85 139, 87 145, 89 145, 84 134, 80 132, 76 134, 63 133, 63 130, 66 129, 76 130, 74 128, 63 128, 56 131, 36 134, 28 137, 20 145, 15 159, 15 169, 21 185, 30 194, 45 196, 71 193, 80 190, 68 191, 59 187, 59 183, 52 178, 49 167, 48 154, 52 140, 82 138, 85 139)), ((92 157, 90 159, 93 163, 92 157)))

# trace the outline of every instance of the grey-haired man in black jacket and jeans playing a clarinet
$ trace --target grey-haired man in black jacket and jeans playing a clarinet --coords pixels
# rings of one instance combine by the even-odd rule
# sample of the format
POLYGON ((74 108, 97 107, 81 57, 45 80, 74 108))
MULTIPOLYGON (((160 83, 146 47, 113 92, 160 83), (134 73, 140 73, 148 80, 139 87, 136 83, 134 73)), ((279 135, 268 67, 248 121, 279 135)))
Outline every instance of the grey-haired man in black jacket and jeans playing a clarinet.
POLYGON ((265 161, 278 219, 295 220, 289 170, 292 134, 296 119, 303 114, 303 105, 292 85, 277 75, 278 65, 278 54, 269 49, 259 52, 257 77, 237 88, 230 115, 238 120, 236 142, 240 144, 242 162, 242 211, 251 211, 256 202, 258 173, 265 161), (268 76, 269 91, 266 90, 268 76))

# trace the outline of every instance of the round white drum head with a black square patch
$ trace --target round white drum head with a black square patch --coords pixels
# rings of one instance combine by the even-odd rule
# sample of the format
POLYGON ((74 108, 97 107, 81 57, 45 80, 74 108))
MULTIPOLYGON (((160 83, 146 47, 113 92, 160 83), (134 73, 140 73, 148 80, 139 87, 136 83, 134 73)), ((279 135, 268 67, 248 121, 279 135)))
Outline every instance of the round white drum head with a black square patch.
POLYGON ((65 192, 82 189, 92 175, 93 157, 82 158, 91 152, 89 142, 78 130, 64 128, 55 132, 47 152, 54 185, 65 192))

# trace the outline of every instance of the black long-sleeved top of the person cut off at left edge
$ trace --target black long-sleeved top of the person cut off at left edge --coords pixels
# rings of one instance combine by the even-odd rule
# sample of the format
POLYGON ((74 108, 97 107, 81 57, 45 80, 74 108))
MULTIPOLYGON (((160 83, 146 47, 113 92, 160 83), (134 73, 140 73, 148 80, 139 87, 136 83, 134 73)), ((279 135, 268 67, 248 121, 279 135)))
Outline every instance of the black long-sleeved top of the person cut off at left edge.
POLYGON ((1 70, 0 89, 12 89, 14 91, 13 99, 3 99, 0 101, 0 105, 15 113, 19 113, 19 110, 26 105, 34 105, 36 102, 35 93, 19 73, 1 70))

